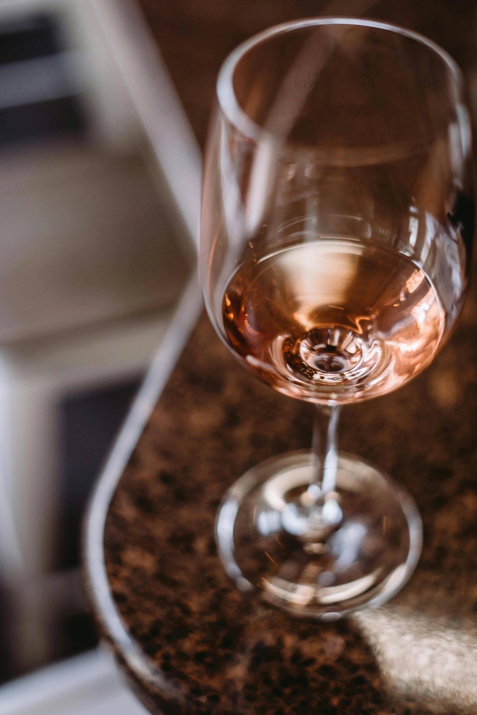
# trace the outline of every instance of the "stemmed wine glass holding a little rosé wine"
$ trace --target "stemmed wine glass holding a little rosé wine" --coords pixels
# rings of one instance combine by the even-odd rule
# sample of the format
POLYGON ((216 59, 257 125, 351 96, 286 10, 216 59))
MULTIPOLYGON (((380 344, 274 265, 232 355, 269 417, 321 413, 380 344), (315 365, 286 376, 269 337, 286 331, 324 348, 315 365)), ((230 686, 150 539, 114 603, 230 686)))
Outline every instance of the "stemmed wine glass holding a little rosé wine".
POLYGON ((413 572, 421 518, 402 486, 339 453, 341 405, 426 368, 463 305, 473 240, 461 72, 415 32, 294 21, 230 54, 205 157, 200 275, 225 345, 316 405, 311 451, 232 485, 217 546, 242 590, 334 620, 413 572))

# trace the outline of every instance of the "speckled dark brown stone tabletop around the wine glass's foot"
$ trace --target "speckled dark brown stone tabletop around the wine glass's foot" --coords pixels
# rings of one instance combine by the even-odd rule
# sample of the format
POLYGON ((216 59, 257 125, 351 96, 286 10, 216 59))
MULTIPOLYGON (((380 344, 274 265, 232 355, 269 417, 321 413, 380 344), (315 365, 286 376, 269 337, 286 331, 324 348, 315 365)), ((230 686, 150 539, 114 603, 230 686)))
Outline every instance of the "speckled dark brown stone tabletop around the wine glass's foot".
POLYGON ((257 461, 307 446, 311 414, 248 375, 202 316, 104 535, 114 601, 151 665, 147 678, 127 670, 152 712, 477 712, 476 331, 471 298, 426 373, 343 410, 341 448, 410 490, 424 548, 388 606, 321 624, 242 596, 217 557, 222 494, 257 461))

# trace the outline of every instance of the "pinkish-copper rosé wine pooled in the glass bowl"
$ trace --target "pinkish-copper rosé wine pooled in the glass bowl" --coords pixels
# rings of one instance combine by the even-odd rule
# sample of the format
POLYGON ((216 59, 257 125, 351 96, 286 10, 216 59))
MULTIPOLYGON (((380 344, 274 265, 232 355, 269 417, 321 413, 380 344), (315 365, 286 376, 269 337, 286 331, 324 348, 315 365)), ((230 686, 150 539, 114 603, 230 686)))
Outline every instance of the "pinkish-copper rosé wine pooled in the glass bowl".
POLYGON ((305 242, 245 262, 227 285, 227 341, 291 397, 365 400, 420 373, 441 344, 444 312, 409 257, 354 239, 305 242))

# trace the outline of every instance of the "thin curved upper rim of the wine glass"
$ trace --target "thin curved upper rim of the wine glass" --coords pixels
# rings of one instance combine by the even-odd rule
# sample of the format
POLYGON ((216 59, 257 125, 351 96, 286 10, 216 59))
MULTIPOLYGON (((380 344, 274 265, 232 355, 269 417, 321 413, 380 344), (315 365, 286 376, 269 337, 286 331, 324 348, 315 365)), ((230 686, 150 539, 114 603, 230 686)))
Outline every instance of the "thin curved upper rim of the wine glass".
POLYGON ((360 27, 370 27, 373 29, 385 30, 393 32, 395 34, 403 35, 409 39, 417 41, 421 45, 425 45, 431 51, 438 54, 441 57, 444 64, 448 66, 448 69, 453 75, 453 79, 456 82, 456 87, 458 88, 458 94, 461 95, 463 91, 463 74, 458 66, 457 62, 453 57, 451 57, 448 52, 438 45, 433 40, 429 39, 425 35, 414 30, 407 29, 400 25, 395 25, 391 22, 382 22, 379 20, 370 20, 367 18, 360 17, 310 17, 299 20, 291 20, 288 22, 283 22, 278 25, 273 25, 262 32, 259 32, 249 39, 240 43, 230 54, 225 58, 225 61, 220 67, 219 74, 217 76, 216 83, 216 95, 217 101, 220 105, 220 109, 225 114, 225 117, 229 120, 236 129, 238 129, 241 134, 243 134, 247 139, 252 141, 257 141, 260 137, 266 135, 267 129, 260 127, 259 124, 251 119, 248 114, 240 107, 237 97, 235 96, 235 90, 233 87, 233 76, 235 68, 242 57, 253 47, 257 46, 263 41, 270 39, 275 35, 279 35, 291 30, 302 29, 304 27, 313 27, 317 25, 348 25, 348 26, 360 26, 360 27))

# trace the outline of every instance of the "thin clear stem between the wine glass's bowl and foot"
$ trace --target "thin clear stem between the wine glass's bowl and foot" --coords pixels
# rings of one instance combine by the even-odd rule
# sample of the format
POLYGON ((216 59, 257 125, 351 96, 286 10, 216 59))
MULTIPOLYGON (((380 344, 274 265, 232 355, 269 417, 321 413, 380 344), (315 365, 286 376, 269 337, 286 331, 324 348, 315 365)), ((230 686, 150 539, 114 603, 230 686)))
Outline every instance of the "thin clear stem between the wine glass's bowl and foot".
POLYGON ((336 488, 336 470, 338 468, 338 420, 340 406, 315 405, 315 423, 311 450, 313 455, 313 482, 308 493, 315 498, 322 497, 336 488), (320 488, 320 492, 316 487, 320 488), (314 488, 313 488, 314 487, 314 488))

